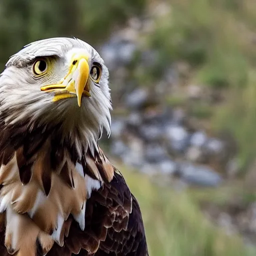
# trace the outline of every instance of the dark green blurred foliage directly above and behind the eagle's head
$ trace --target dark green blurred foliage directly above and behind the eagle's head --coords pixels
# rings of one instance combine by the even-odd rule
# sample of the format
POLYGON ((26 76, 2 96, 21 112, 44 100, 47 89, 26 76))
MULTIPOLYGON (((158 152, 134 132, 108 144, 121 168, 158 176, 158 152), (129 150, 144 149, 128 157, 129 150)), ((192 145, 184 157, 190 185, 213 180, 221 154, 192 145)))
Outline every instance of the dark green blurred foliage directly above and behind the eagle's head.
POLYGON ((145 0, 1 0, 0 65, 23 45, 41 38, 75 36, 103 40, 145 0))

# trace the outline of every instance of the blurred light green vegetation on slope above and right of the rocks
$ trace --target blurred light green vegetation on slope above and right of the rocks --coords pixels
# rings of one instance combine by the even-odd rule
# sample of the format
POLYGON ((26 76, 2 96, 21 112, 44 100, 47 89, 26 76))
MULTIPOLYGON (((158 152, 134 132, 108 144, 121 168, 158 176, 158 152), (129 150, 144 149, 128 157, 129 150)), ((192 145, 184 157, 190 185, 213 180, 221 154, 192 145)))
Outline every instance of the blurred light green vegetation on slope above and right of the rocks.
MULTIPOLYGON (((217 91, 224 99, 218 105, 202 99, 190 104, 189 109, 191 115, 208 119, 214 132, 225 131, 234 137, 238 143, 239 168, 244 172, 256 151, 256 3, 254 0, 169 2, 169 12, 155 18, 155 29, 144 40, 157 53, 153 67, 157 75, 150 70, 144 73, 151 74, 149 84, 154 84, 173 61, 184 61, 190 66, 184 85, 190 81, 217 91)), ((168 104, 172 104, 172 97, 166 97, 168 104)))

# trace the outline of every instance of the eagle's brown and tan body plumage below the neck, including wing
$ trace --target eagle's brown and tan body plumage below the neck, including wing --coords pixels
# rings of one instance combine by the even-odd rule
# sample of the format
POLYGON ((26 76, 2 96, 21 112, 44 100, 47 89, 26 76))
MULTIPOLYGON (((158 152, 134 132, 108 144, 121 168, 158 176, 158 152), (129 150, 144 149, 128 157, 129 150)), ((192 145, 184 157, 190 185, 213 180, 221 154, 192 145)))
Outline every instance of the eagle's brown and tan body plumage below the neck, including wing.
POLYGON ((36 145, 17 130, 0 148, 1 256, 148 255, 139 206, 100 148, 79 160, 47 130, 36 145))

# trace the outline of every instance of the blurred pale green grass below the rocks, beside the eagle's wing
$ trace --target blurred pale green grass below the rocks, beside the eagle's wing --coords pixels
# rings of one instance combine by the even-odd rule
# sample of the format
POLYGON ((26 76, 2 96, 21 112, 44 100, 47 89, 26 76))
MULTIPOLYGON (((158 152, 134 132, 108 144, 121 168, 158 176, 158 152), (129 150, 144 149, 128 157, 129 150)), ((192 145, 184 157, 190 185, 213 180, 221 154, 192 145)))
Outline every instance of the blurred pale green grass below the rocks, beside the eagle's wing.
POLYGON ((119 167, 142 211, 151 256, 249 256, 238 236, 210 224, 188 192, 158 187, 145 175, 119 167))

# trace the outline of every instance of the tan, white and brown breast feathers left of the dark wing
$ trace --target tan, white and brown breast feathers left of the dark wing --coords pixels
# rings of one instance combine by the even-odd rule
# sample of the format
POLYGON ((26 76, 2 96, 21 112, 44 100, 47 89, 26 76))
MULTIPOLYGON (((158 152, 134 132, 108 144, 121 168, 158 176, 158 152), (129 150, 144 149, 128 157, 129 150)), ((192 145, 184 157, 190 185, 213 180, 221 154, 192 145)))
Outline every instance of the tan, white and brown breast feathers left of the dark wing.
MULTIPOLYGON (((62 246, 72 222, 70 216, 83 230, 87 198, 93 190, 101 187, 103 178, 113 177, 113 166, 110 168, 101 150, 94 153, 96 158, 91 153, 83 156, 87 169, 83 171, 81 164, 73 164, 69 148, 65 148, 65 153, 60 150, 58 155, 61 157, 55 158, 52 166, 50 145, 48 138, 28 159, 24 156, 23 147, 13 153, 6 149, 5 155, 9 156, 0 168, 0 183, 3 185, 0 189, 0 211, 7 212, 5 244, 9 254, 18 252, 20 256, 35 256, 36 246, 40 245, 44 252, 49 251, 54 241, 62 246), (98 159, 100 170, 95 163, 98 159), (104 166, 107 168, 103 169, 104 166), (23 223, 22 230, 14 227, 15 221, 23 223), (29 251, 25 248, 30 245, 23 244, 27 241, 21 238, 23 225, 30 226, 33 236, 29 240, 29 244, 33 243, 29 251)), ((29 233, 30 228, 25 230, 29 233)))

